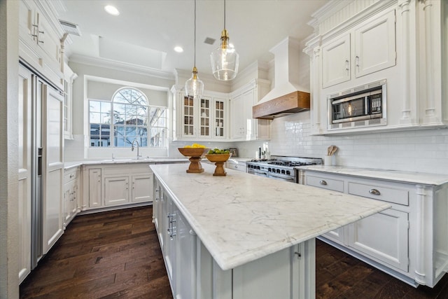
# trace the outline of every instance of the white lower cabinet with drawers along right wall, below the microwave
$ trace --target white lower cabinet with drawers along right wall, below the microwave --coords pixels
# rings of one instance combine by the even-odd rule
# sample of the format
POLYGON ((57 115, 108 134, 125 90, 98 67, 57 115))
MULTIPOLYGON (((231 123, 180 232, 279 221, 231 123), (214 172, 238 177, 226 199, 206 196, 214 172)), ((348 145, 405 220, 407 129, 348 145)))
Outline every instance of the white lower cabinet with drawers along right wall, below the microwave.
POLYGON ((302 183, 389 202, 392 207, 338 230, 325 242, 408 284, 433 287, 448 269, 448 184, 388 181, 300 169, 302 183))

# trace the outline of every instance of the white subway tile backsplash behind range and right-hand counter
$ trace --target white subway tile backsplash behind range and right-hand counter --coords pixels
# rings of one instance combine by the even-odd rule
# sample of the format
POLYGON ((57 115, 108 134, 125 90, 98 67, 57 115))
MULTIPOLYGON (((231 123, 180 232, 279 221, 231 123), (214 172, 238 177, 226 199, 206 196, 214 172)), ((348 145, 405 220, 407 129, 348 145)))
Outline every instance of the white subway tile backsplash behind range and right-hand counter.
POLYGON ((309 112, 276 118, 271 125, 271 153, 323 158, 328 146, 335 145, 337 165, 448 174, 448 129, 346 136, 310 132, 309 112))

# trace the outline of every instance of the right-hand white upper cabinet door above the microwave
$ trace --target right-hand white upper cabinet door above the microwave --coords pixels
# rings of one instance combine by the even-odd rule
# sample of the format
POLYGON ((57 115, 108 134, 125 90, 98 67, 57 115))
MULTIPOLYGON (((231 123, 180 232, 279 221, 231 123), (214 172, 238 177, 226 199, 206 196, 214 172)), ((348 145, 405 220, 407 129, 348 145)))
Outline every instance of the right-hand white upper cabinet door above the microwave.
POLYGON ((354 34, 356 78, 395 65, 395 11, 369 20, 354 34))

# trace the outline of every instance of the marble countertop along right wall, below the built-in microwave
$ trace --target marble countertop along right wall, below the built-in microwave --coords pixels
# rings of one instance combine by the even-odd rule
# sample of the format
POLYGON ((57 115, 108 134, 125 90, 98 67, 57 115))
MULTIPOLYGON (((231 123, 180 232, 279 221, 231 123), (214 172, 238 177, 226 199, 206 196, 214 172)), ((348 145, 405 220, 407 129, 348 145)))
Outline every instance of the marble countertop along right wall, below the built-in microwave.
POLYGON ((446 174, 428 174, 425 172, 401 172, 398 170, 325 165, 299 166, 295 168, 309 169, 316 172, 325 172, 329 174, 345 174, 348 176, 359 176, 369 179, 382 179, 401 183, 421 183, 424 185, 433 186, 442 185, 443 183, 448 182, 448 175, 446 174))

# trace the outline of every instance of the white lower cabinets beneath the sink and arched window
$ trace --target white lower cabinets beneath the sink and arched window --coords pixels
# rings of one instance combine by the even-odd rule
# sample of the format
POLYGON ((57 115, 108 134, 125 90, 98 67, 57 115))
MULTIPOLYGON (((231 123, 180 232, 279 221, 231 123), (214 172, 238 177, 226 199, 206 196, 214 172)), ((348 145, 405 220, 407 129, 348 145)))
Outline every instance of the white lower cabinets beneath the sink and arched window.
POLYGON ((149 163, 83 165, 83 211, 153 201, 149 163))

